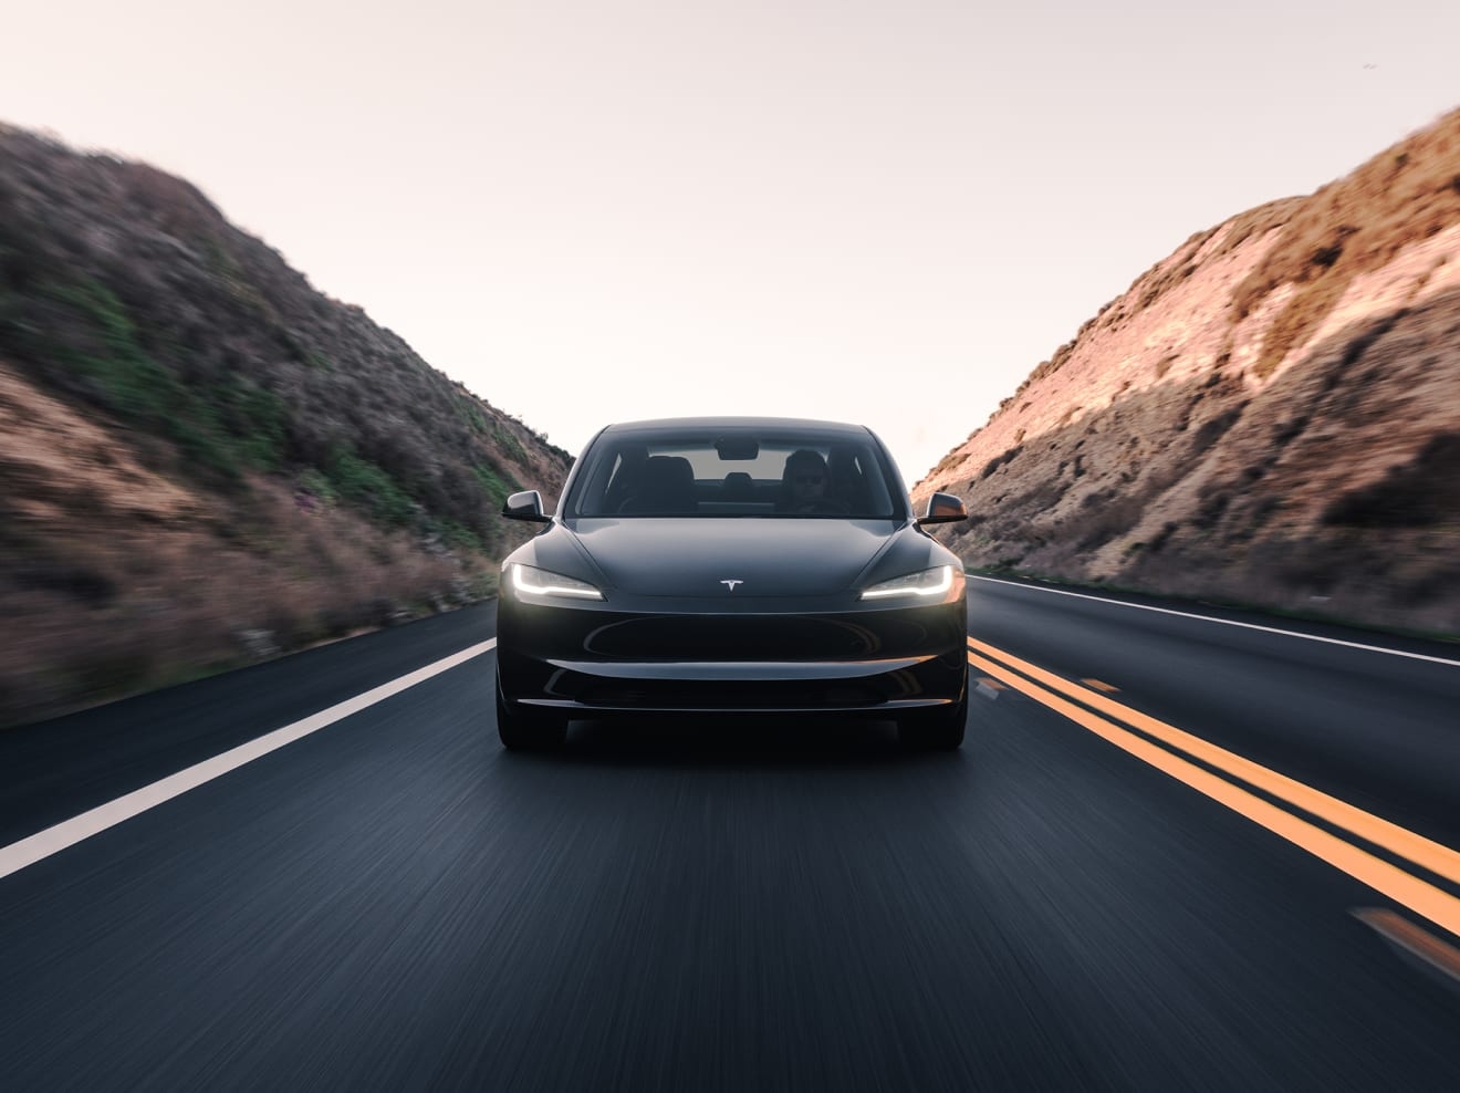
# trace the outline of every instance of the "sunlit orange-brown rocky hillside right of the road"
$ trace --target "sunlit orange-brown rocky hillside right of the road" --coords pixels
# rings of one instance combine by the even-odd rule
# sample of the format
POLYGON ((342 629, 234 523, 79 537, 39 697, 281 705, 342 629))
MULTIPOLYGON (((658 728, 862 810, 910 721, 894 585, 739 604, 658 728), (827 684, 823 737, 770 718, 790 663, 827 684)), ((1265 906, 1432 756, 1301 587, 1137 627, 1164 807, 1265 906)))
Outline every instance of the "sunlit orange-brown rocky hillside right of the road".
POLYGON ((1460 633, 1460 111, 1193 235, 933 490, 974 567, 1460 633))

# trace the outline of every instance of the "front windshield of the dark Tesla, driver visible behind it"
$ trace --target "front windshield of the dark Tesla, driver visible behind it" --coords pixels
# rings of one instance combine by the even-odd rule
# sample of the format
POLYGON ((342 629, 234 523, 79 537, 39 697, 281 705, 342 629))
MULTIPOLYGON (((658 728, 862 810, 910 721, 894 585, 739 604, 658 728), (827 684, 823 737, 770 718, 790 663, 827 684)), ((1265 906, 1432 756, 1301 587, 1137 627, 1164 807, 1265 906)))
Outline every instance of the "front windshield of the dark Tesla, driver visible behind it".
POLYGON ((905 513, 870 435, 609 434, 587 453, 572 516, 894 519, 905 513))

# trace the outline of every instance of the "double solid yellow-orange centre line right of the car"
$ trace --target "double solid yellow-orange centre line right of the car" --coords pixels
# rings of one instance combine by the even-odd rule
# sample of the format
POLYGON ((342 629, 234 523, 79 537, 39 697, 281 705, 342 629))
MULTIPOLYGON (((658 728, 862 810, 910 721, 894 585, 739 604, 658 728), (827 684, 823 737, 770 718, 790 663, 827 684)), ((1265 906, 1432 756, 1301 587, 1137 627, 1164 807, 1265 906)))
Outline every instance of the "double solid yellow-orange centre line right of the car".
MULTIPOLYGON (((1021 660, 991 644, 969 639, 968 649, 968 662, 994 679, 1048 706, 1056 713, 1069 717, 1136 758, 1226 805, 1234 812, 1240 812, 1248 820, 1261 824, 1295 846, 1301 846, 1308 853, 1329 862, 1329 865, 1342 869, 1375 891, 1388 896, 1396 903, 1409 907, 1415 913, 1450 931, 1450 934, 1460 937, 1460 899, 1375 856, 1356 845, 1356 842, 1386 850, 1394 858, 1419 867, 1419 869, 1434 877, 1441 877, 1451 884, 1460 886, 1460 853, 1448 846, 1437 843, 1432 839, 1425 839, 1399 824, 1381 820, 1334 796, 1321 793, 1311 786, 1305 786, 1302 782, 1279 774, 1259 763, 1253 763, 1225 748, 1193 736, 1190 732, 1123 706, 1105 694, 1070 682, 1054 672, 1048 672, 1028 660, 1021 660), (1132 729, 1139 729, 1145 735, 1132 729), (1152 739, 1161 741, 1161 744, 1168 747, 1159 747, 1152 739), (1235 782, 1213 774, 1188 758, 1183 758, 1178 753, 1184 753, 1215 770, 1221 770, 1223 774, 1235 779, 1235 782), (1257 796, 1238 783, 1245 783, 1311 817, 1323 820, 1353 836, 1356 842, 1348 842, 1332 834, 1308 820, 1257 796)), ((1460 957, 1460 954, 1456 956, 1460 957)), ((1460 963, 1445 970, 1460 976, 1460 963)))

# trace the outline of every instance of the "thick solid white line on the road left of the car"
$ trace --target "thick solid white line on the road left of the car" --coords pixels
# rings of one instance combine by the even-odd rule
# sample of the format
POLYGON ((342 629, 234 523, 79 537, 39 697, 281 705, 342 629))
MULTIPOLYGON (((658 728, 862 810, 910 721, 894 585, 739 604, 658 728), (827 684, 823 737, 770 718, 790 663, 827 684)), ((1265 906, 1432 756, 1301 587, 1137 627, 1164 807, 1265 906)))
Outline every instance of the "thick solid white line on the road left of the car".
POLYGON ((134 789, 124 796, 118 796, 115 801, 92 808, 89 812, 73 815, 70 820, 63 820, 54 827, 47 827, 44 831, 36 831, 32 836, 20 839, 19 842, 0 848, 0 878, 9 877, 12 872, 23 869, 26 865, 34 865, 44 858, 50 858, 53 853, 58 853, 67 846, 74 846, 83 839, 89 839, 99 831, 105 831, 108 827, 120 824, 123 820, 130 820, 134 815, 146 812, 149 808, 156 808, 162 802, 171 801, 190 789, 196 789, 204 782, 212 782, 215 777, 222 777, 231 770, 238 770, 238 767, 245 763, 253 763, 256 758, 267 755, 270 751, 277 751, 286 744, 293 744, 296 739, 302 739, 311 732, 318 732, 337 720, 349 717, 352 713, 359 713, 378 701, 390 698, 393 694, 400 694, 419 682, 425 682, 434 675, 439 675, 441 672, 450 671, 460 663, 480 656, 495 646, 496 639, 493 637, 488 641, 463 649, 460 653, 453 653, 451 656, 437 660, 432 665, 418 668, 415 672, 407 672, 406 675, 391 679, 387 684, 381 684, 380 687, 362 694, 356 694, 353 698, 346 698, 327 710, 320 710, 318 713, 312 713, 302 720, 293 722, 292 725, 285 725, 282 729, 274 729, 258 739, 239 744, 237 748, 225 751, 222 755, 203 760, 187 770, 169 774, 161 782, 153 782, 150 786, 134 789))

